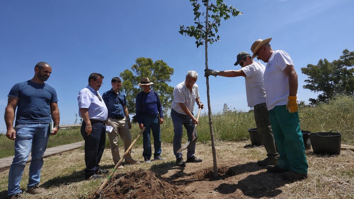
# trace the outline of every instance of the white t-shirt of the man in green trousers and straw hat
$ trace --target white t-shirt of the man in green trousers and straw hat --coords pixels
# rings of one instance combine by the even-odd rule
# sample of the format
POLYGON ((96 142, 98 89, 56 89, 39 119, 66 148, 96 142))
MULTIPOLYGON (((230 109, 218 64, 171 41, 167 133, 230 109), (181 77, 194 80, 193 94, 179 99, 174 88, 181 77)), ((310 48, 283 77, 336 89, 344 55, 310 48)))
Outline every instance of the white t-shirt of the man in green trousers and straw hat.
MULTIPOLYGON (((289 97, 289 76, 284 73, 286 65, 294 66, 288 53, 276 50, 270 56, 263 75, 264 89, 267 93, 266 103, 268 110, 275 106, 286 105, 289 97)), ((296 102, 299 98, 296 93, 296 102)))

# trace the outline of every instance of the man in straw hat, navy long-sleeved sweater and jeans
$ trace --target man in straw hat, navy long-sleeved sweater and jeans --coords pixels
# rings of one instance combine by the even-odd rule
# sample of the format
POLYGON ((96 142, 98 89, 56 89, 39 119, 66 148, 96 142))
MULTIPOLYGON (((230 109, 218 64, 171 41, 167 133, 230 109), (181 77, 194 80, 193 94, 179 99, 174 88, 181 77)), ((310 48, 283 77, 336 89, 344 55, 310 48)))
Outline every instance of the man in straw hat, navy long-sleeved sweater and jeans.
POLYGON ((161 131, 160 124, 164 123, 164 112, 159 95, 156 91, 151 90, 149 78, 141 78, 138 84, 143 91, 136 95, 136 118, 139 123, 139 128, 146 128, 143 132, 143 157, 145 163, 151 163, 151 142, 150 129, 153 131, 154 137, 154 160, 164 160, 161 157, 161 131))

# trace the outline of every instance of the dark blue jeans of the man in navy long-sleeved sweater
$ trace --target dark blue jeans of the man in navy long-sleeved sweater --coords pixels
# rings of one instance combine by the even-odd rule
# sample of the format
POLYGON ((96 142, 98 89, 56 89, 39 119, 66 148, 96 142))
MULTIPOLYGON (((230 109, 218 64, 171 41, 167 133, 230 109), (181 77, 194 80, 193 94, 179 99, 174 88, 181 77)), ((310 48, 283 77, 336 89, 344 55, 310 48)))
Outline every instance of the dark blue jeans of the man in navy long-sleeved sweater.
POLYGON ((141 115, 142 122, 146 128, 143 132, 143 157, 151 158, 151 143, 150 143, 150 132, 153 131, 154 137, 154 157, 161 154, 161 131, 159 123, 159 114, 154 116, 141 115))

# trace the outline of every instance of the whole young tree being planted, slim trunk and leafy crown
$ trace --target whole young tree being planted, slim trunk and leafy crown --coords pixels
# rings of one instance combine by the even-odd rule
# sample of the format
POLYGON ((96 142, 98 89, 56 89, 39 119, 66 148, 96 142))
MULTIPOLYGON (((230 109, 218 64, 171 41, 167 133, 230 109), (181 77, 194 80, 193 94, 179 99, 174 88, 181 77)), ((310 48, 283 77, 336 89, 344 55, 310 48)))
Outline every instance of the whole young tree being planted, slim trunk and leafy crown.
MULTIPOLYGON (((230 16, 241 15, 242 12, 238 11, 234 6, 227 6, 223 0, 216 0, 216 4, 212 2, 209 4, 209 0, 201 0, 202 5, 198 0, 189 0, 192 2, 194 11, 194 24, 188 27, 181 25, 179 27, 179 33, 182 35, 188 35, 196 39, 195 43, 197 48, 200 45, 205 45, 205 69, 208 69, 208 43, 220 41, 219 35, 215 36, 218 32, 218 28, 221 23, 221 19, 227 20, 230 16), (205 8, 205 12, 201 12, 201 8, 205 8), (210 15, 209 12, 212 14, 210 15), (202 19, 200 20, 200 17, 202 19), (211 21, 209 19, 211 18, 211 21)), ((210 0, 211 1, 211 0, 210 0)), ((214 144, 213 122, 211 118, 210 96, 209 96, 209 77, 206 78, 206 95, 208 99, 208 115, 209 115, 209 128, 211 138, 211 148, 213 153, 213 174, 214 177, 218 175, 218 169, 216 164, 216 153, 214 144)))

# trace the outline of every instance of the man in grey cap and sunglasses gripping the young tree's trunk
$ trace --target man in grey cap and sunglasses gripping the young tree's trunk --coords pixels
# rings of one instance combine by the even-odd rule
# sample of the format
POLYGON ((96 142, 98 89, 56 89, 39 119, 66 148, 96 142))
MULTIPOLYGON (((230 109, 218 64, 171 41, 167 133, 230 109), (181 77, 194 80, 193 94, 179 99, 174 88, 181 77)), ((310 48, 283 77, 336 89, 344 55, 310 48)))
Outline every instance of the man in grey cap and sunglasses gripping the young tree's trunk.
POLYGON ((269 113, 267 105, 265 104, 265 90, 263 85, 265 66, 261 64, 261 62, 253 61, 251 55, 244 51, 237 55, 237 61, 234 65, 237 66, 238 64, 241 66, 239 70, 217 71, 205 69, 204 76, 245 77, 247 103, 249 107, 253 107, 258 134, 265 150, 267 150, 268 156, 264 160, 258 160, 257 165, 264 167, 267 165, 276 165, 278 163, 277 159, 279 154, 276 152, 273 132, 269 128, 269 113))

